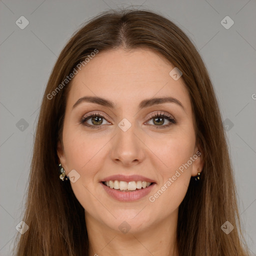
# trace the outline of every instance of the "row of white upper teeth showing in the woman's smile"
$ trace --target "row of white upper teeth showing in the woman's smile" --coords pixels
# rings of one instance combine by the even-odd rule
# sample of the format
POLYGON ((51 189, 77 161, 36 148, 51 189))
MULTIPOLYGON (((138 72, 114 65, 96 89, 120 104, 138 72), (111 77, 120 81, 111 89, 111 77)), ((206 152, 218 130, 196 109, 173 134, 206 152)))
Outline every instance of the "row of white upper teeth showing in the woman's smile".
POLYGON ((110 188, 114 188, 114 189, 120 189, 123 191, 132 191, 132 190, 136 190, 137 189, 141 189, 141 188, 145 188, 148 187, 151 182, 147 182, 147 181, 122 181, 122 180, 109 180, 109 181, 105 181, 104 184, 110 188))

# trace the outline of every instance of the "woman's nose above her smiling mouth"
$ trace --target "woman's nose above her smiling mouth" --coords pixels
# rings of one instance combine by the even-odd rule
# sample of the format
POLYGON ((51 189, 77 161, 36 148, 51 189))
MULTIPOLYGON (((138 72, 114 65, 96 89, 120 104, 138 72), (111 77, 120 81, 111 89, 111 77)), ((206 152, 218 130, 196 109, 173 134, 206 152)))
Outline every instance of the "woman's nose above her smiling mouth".
POLYGON ((116 135, 112 140, 111 158, 124 166, 133 166, 143 161, 145 145, 139 138, 135 125, 132 124, 126 131, 124 130, 119 126, 116 127, 116 135))

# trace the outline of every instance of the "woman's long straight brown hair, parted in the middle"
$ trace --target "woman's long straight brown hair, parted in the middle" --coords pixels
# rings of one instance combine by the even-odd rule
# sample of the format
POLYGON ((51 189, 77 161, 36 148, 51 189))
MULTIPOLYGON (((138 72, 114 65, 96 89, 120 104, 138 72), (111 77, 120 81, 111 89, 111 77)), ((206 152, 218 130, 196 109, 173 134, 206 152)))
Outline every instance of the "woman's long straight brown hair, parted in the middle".
POLYGON ((41 102, 22 218, 29 228, 22 235, 18 233, 15 255, 87 255, 84 209, 70 181, 62 182, 57 169, 56 144, 61 140, 70 89, 70 82, 63 85, 63 81, 95 49, 101 52, 117 47, 148 48, 160 53, 182 71, 189 93, 204 167, 199 184, 190 180, 179 205, 179 256, 249 255, 241 233, 221 115, 204 63, 192 42, 173 22, 152 11, 127 9, 100 13, 83 24, 53 67, 41 102), (56 90, 61 83, 61 89, 56 90), (227 220, 234 226, 229 234, 221 229, 227 220))

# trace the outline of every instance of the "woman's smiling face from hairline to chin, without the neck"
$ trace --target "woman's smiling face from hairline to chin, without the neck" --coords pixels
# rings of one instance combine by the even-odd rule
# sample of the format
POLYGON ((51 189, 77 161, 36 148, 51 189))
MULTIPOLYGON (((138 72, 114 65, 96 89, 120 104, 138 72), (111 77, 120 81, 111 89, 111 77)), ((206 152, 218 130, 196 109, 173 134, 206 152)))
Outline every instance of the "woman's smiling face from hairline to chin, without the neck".
POLYGON ((188 92, 173 68, 151 50, 115 49, 99 51, 74 76, 57 153, 87 223, 135 232, 177 220, 202 160, 188 92), (162 97, 172 100, 155 100, 162 97))

